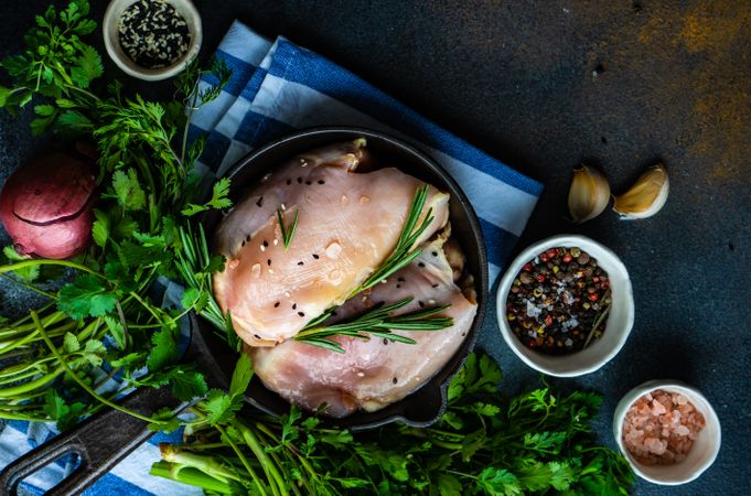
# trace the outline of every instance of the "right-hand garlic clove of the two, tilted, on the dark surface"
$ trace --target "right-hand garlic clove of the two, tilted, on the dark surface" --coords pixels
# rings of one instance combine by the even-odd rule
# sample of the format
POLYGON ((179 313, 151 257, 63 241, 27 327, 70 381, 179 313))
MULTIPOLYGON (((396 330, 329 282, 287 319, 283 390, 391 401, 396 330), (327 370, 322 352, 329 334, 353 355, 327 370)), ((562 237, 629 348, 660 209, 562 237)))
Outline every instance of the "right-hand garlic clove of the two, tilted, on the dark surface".
POLYGON ((615 196, 613 211, 623 220, 652 217, 665 205, 669 190, 665 165, 652 165, 627 192, 615 196))

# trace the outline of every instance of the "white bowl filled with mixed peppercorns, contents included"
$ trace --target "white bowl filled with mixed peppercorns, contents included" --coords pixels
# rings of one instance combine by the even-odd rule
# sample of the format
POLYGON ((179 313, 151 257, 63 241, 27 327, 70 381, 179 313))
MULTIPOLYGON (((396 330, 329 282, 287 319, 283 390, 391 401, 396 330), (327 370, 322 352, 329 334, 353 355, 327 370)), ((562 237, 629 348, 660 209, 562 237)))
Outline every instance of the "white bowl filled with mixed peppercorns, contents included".
POLYGON ((530 367, 558 377, 589 374, 623 347, 634 322, 631 280, 610 249, 578 235, 539 241, 501 279, 498 326, 530 367))

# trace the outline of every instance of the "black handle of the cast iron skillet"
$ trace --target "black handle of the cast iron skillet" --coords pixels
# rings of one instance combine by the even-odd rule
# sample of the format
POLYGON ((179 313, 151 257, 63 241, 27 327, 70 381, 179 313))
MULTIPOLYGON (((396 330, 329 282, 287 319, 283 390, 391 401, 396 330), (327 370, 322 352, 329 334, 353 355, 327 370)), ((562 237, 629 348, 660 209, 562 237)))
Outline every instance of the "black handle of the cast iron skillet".
MULTIPOLYGON (((178 400, 165 388, 142 388, 129 395, 120 405, 150 414, 164 407, 184 408, 186 403, 178 400)), ((0 494, 15 496, 21 481, 71 453, 78 456, 81 465, 45 494, 79 494, 153 434, 147 425, 147 422, 118 410, 101 411, 8 465, 0 473, 0 494)))

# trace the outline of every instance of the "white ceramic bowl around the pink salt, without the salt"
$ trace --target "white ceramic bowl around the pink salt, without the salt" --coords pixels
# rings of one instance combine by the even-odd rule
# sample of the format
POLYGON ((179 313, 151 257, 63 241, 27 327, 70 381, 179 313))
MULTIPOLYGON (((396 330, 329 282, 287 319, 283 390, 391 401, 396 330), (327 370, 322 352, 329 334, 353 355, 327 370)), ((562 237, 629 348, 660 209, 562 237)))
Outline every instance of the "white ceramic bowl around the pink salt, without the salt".
POLYGON ((678 380, 650 380, 643 385, 635 387, 629 391, 623 399, 615 407, 613 414, 613 435, 615 442, 621 449, 621 452, 631 463, 634 473, 640 477, 650 481, 654 484, 663 484, 675 486, 685 484, 697 478, 704 471, 717 459, 720 451, 721 432, 720 420, 717 418, 715 409, 709 405, 707 398, 701 395, 696 388, 678 380), (629 408, 640 397, 652 392, 655 389, 662 389, 667 392, 678 392, 694 405, 694 407, 704 416, 706 427, 699 432, 691 450, 686 455, 686 460, 675 465, 643 465, 639 463, 623 445, 622 431, 623 419, 625 418, 629 408))

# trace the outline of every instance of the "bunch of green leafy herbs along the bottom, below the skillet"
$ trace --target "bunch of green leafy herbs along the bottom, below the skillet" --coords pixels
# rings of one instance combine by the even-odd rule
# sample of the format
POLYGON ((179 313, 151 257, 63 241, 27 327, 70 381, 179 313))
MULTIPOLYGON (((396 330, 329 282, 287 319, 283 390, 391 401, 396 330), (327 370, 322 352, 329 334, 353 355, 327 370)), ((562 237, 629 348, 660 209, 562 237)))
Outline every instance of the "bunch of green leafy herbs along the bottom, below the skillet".
MULTIPOLYGON (((235 376, 248 373, 238 364, 235 376)), ((206 494, 627 494, 627 462, 594 442, 599 396, 543 388, 506 398, 500 380, 490 357, 470 355, 436 425, 353 434, 297 409, 281 419, 238 413, 244 388, 233 378, 228 395, 212 391, 194 408, 191 442, 160 446, 151 473, 206 494)))

